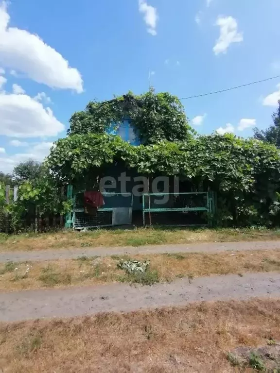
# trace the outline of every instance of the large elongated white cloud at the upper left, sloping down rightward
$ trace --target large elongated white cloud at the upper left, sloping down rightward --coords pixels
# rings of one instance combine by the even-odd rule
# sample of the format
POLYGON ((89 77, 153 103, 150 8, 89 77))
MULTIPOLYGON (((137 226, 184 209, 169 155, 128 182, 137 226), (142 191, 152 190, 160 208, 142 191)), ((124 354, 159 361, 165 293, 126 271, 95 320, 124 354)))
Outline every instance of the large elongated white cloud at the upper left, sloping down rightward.
POLYGON ((83 91, 80 72, 38 35, 9 27, 10 16, 5 1, 0 6, 0 62, 26 74, 38 83, 53 88, 83 91))

